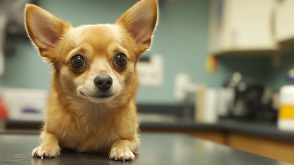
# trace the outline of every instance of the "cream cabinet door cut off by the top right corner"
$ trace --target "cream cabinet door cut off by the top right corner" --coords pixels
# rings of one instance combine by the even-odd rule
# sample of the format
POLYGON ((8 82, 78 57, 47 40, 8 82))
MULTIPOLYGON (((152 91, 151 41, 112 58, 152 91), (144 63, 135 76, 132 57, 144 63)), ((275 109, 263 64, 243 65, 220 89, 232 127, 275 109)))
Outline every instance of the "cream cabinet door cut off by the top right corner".
POLYGON ((277 0, 275 39, 280 43, 294 43, 294 0, 277 0))

